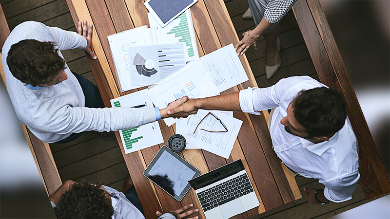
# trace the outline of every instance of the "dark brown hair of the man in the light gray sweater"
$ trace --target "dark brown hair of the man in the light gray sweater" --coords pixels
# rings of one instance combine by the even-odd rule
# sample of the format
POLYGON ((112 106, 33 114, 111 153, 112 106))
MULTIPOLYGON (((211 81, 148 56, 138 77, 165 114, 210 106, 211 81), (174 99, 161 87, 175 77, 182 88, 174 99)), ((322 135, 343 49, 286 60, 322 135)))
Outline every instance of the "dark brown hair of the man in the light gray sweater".
POLYGON ((65 60, 58 55, 54 42, 24 39, 11 46, 7 65, 14 77, 32 86, 50 83, 66 69, 65 60))

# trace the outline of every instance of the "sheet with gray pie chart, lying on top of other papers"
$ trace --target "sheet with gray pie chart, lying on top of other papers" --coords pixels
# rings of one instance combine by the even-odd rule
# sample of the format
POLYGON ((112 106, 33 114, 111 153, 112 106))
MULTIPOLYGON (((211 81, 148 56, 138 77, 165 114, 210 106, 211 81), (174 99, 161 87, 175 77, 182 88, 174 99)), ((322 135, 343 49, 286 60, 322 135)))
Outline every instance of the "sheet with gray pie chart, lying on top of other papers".
POLYGON ((186 64, 184 43, 131 47, 129 62, 131 85, 151 85, 186 64))

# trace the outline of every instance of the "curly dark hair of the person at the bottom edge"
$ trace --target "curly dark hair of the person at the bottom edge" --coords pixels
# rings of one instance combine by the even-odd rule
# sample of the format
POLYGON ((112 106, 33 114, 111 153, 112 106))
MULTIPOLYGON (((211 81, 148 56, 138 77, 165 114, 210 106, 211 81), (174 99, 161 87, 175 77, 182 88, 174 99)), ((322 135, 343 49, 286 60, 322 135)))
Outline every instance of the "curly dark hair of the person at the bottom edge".
POLYGON ((60 198, 54 212, 58 219, 111 219, 114 209, 100 184, 74 184, 60 198))

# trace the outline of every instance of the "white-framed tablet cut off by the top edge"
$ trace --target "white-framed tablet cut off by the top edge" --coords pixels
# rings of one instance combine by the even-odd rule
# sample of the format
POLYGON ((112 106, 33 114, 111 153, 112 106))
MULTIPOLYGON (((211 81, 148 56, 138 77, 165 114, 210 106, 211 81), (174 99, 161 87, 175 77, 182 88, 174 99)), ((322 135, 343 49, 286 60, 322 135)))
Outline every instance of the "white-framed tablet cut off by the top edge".
POLYGON ((164 27, 198 0, 147 0, 145 7, 156 18, 158 24, 164 27))

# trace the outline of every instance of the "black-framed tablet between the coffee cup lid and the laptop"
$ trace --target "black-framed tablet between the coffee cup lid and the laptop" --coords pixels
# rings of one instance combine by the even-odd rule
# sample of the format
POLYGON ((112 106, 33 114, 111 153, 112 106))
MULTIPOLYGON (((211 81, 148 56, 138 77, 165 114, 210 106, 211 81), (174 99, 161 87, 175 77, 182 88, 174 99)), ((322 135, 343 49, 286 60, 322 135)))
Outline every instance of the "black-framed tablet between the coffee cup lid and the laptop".
POLYGON ((181 201, 191 188, 188 181, 198 177, 200 171, 167 146, 162 146, 143 175, 181 201))

